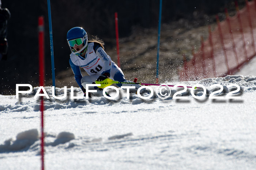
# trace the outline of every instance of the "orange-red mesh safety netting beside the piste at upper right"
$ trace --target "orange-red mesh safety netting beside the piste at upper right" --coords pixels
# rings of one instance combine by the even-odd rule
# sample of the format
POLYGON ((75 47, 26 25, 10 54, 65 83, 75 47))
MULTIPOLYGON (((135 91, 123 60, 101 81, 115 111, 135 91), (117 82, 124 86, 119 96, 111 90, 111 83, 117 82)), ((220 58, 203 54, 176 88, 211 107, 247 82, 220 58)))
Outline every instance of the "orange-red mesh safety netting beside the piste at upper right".
POLYGON ((233 17, 226 11, 226 19, 209 37, 202 41, 201 48, 179 72, 181 81, 219 77, 234 74, 242 65, 256 55, 256 3, 246 1, 246 7, 238 10, 233 17))

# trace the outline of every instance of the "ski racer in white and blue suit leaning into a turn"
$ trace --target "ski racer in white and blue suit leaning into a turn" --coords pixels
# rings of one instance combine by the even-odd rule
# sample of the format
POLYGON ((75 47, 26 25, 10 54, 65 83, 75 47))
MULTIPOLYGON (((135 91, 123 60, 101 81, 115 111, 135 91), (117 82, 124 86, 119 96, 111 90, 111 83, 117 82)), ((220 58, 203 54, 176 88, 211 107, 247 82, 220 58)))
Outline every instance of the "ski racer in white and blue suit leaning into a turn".
MULTIPOLYGON (((67 33, 67 41, 71 50, 69 64, 75 74, 76 82, 84 92, 84 96, 86 84, 93 84, 95 80, 102 81, 110 78, 118 82, 130 82, 124 78, 123 71, 104 51, 103 41, 99 39, 88 41, 87 33, 81 27, 71 28, 67 33), (82 76, 79 67, 82 67, 89 76, 82 76)), ((122 84, 117 84, 117 86, 121 87, 122 84)), ((123 86, 135 86, 135 89, 130 89, 130 92, 135 94, 140 87, 139 84, 123 84, 123 86)), ((96 86, 94 89, 102 91, 96 86)), ((140 91, 141 94, 145 92, 148 91, 144 88, 140 91)), ((91 97, 90 94, 89 97, 91 97)))

